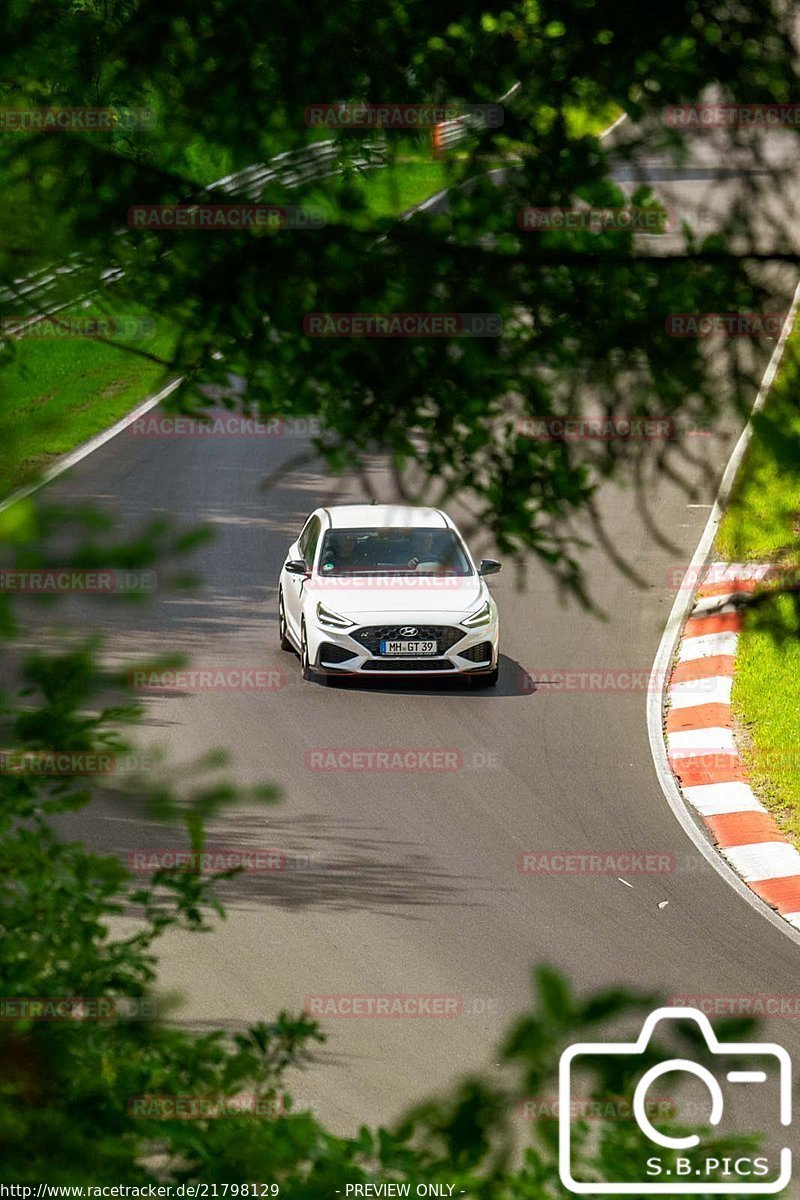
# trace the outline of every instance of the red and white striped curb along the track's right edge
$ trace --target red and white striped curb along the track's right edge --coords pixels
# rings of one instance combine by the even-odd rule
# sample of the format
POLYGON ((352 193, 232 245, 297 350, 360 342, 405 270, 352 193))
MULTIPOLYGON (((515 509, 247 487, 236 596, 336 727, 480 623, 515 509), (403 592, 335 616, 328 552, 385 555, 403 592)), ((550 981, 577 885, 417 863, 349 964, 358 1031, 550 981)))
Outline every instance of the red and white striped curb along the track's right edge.
POLYGON ((717 850, 762 900, 800 929, 800 851, 756 798, 730 720, 741 601, 766 564, 712 563, 684 628, 667 700, 667 757, 717 850))

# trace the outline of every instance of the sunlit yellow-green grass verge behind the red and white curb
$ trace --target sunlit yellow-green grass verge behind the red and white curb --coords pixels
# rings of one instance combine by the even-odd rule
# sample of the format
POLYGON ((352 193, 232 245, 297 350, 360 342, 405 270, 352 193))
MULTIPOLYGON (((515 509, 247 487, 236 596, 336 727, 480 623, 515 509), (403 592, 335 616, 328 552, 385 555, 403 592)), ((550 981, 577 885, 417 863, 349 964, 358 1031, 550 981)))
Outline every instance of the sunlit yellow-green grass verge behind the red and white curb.
MULTIPOLYGON (((717 558, 800 569, 800 337, 756 421, 717 558)), ((739 640, 733 685, 736 736, 753 788, 800 846, 800 602, 768 598, 739 640)))

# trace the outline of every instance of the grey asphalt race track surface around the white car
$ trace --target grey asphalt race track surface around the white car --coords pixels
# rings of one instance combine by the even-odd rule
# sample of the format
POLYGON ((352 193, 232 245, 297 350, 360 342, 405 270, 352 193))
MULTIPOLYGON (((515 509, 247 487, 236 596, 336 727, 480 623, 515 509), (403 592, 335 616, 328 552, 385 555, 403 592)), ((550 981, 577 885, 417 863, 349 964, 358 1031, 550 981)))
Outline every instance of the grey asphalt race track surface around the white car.
MULTIPOLYGON (((796 173, 795 150, 782 137, 774 136, 765 169, 786 178, 796 173)), ((722 149, 715 156, 711 145, 698 139, 681 168, 654 161, 654 186, 685 208, 718 210, 739 178, 735 161, 722 149)), ((776 301, 788 308, 792 270, 775 280, 776 301)), ((771 349, 771 342, 753 346, 762 370, 771 349)), ((71 601, 86 625, 108 635, 110 654, 180 649, 196 666, 285 674, 273 692, 148 701, 148 744, 166 746, 179 763, 227 746, 237 779, 273 780, 284 793, 279 806, 237 810, 211 832, 215 846, 279 847, 287 869, 228 884, 228 920, 213 934, 164 942, 161 988, 182 996, 175 1020, 233 1030, 281 1008, 299 1010, 309 996, 461 997, 462 1014, 450 1019, 326 1022, 329 1042, 293 1090, 336 1128, 354 1132, 456 1078, 492 1069, 504 1028, 528 1002, 535 962, 563 967, 581 989, 800 991, 796 946, 733 892, 672 815, 650 756, 644 686, 627 695, 531 689, 524 674, 534 682, 563 668, 646 676, 738 432, 732 426, 726 437, 698 437, 690 446, 699 488, 691 500, 654 476, 646 514, 633 491, 603 488, 609 539, 644 580, 637 586, 603 548, 588 550, 588 583, 603 619, 563 602, 539 564, 521 578, 506 569, 492 580, 503 658, 500 684, 489 692, 415 680, 330 689, 301 682, 296 658, 277 646, 278 570, 312 508, 362 498, 355 479, 331 480, 307 464, 260 490, 267 473, 303 450, 301 437, 122 433, 50 485, 48 499, 96 502, 126 527, 157 511, 216 532, 196 557, 205 586, 194 596, 157 590, 148 607, 133 610, 102 598, 71 601), (461 766, 307 769, 306 752, 317 748, 447 749, 461 766), (672 865, 627 882, 618 878, 622 871, 521 874, 518 856, 531 850, 650 853, 669 856, 672 865)), ((391 499, 379 463, 372 475, 391 499)), ((474 550, 492 553, 486 542, 474 550)), ((114 799, 92 804, 70 829, 122 854, 178 845, 174 832, 114 799)), ((770 1021, 764 1034, 800 1052, 796 1019, 770 1021)))

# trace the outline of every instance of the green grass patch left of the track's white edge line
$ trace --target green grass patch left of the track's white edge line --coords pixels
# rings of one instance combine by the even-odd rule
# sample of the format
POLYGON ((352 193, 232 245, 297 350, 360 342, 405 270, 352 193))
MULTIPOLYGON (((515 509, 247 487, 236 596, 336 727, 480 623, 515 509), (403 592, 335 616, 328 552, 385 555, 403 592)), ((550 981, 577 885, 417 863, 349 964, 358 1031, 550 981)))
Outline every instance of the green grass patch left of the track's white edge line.
MULTIPOLYGON (((67 312, 101 316, 96 306, 76 305, 67 312)), ((126 307, 124 316, 148 314, 126 307)), ((126 344, 168 358, 174 341, 175 332, 164 322, 155 322, 155 329, 137 337, 19 340, 13 359, 0 368, 0 498, 164 385, 163 366, 131 353, 126 344)))

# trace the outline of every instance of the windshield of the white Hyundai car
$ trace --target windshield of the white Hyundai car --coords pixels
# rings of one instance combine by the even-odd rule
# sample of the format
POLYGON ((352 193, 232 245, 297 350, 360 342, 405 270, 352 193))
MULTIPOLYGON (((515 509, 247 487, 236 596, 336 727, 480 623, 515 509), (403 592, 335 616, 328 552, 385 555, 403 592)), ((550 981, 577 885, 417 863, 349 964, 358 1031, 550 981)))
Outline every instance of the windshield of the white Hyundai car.
POLYGON ((320 575, 471 575, 452 529, 329 529, 320 575))

